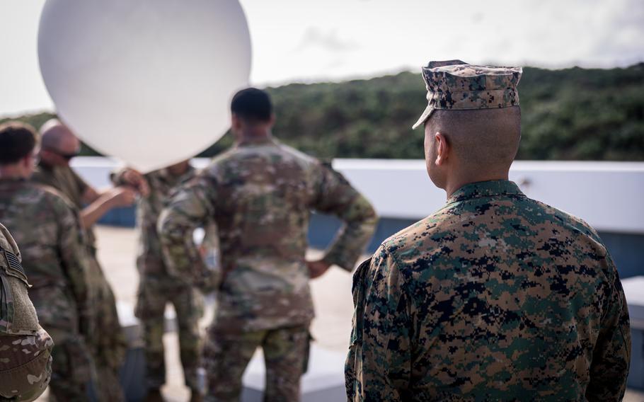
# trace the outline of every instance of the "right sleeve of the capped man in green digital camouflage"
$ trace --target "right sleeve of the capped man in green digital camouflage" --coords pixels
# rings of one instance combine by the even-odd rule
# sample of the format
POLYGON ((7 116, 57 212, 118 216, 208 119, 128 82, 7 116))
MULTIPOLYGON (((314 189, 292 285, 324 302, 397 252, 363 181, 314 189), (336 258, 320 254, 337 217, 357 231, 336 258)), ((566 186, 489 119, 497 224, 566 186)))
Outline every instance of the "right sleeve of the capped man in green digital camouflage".
POLYGON ((631 323, 619 275, 610 256, 609 283, 604 290, 604 315, 590 366, 588 401, 621 401, 631 362, 631 323))

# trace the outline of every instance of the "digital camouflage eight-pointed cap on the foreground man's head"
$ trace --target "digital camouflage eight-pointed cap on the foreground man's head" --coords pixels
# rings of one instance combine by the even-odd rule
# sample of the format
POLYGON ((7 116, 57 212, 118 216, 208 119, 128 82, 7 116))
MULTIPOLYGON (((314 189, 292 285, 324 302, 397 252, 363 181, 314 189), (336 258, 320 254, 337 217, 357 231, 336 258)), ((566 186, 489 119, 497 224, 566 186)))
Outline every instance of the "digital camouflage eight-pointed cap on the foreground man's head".
POLYGON ((430 62, 427 67, 422 67, 428 105, 412 128, 422 125, 436 109, 471 110, 517 106, 517 84, 521 74, 521 67, 476 66, 461 60, 430 62))

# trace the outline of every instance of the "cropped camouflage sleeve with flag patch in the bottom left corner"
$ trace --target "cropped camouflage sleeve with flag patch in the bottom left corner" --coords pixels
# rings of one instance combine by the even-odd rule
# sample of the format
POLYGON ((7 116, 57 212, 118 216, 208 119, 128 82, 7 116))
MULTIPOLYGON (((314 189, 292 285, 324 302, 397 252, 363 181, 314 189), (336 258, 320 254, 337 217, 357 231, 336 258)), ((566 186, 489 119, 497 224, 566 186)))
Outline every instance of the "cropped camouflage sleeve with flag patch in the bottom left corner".
POLYGON ((21 254, 0 224, 0 402, 33 401, 52 377, 50 335, 29 299, 21 254))

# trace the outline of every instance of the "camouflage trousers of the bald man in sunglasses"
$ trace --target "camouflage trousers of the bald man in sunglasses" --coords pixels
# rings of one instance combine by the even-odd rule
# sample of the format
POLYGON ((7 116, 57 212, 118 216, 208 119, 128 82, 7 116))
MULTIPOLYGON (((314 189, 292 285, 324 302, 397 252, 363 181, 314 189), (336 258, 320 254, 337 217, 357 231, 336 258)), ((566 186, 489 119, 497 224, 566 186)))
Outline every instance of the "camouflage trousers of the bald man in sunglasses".
MULTIPOLYGON (((112 287, 103 275, 96 257, 90 260, 90 281, 93 301, 93 316, 96 318, 94 333, 88 343, 96 367, 93 381, 100 402, 125 401, 119 381, 119 370, 125 360, 125 335, 121 331, 112 287)), ((54 356, 54 360, 56 357, 54 356)), ((55 363, 54 363, 55 364, 55 363)))

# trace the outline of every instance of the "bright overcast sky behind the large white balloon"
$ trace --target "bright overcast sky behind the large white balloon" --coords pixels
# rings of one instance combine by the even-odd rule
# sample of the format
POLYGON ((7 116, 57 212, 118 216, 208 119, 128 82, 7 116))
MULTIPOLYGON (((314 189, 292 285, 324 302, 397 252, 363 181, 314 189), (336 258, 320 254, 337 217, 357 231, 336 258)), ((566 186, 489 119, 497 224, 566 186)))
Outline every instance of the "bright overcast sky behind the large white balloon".
MULTIPOLYGON (((0 115, 52 109, 36 54, 44 3, 0 1, 0 115)), ((539 67, 644 61, 642 0, 241 4, 253 42, 251 84, 257 86, 417 71, 430 59, 539 67)))

